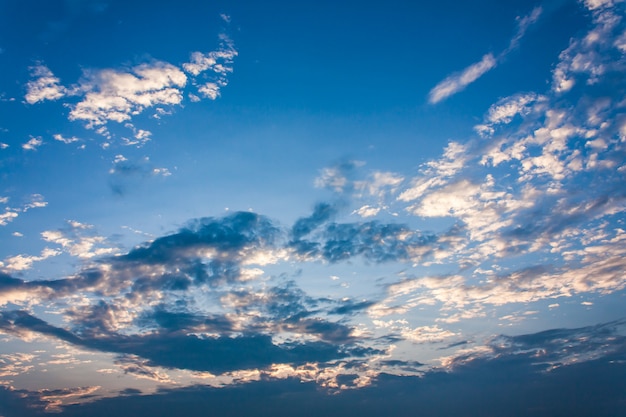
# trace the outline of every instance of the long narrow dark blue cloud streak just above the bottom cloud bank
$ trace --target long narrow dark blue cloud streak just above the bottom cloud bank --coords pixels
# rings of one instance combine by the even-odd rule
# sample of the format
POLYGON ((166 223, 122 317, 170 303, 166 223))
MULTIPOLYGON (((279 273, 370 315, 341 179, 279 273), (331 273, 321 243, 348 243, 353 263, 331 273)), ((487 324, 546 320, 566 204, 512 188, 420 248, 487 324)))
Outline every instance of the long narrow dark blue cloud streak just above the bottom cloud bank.
MULTIPOLYGON (((312 331, 323 333, 328 329, 312 331)), ((323 324, 319 324, 323 327, 323 324)), ((349 356, 379 354, 381 351, 359 346, 328 342, 292 342, 276 345, 265 334, 238 337, 206 337, 174 330, 149 334, 123 335, 118 333, 78 335, 53 326, 25 311, 0 313, 0 329, 20 334, 34 331, 87 349, 102 352, 136 355, 147 361, 147 366, 190 369, 223 373, 241 369, 266 368, 273 363, 304 364, 327 362, 349 356)), ((337 332, 332 328, 333 332, 337 332)), ((336 339, 342 339, 336 337, 336 339)))

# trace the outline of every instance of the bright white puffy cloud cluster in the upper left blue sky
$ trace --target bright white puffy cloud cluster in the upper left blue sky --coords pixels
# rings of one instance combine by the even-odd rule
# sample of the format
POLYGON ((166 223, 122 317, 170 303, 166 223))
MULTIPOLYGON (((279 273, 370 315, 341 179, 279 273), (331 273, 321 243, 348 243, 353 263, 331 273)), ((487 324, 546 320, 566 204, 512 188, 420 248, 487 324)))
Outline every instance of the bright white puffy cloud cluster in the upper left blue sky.
MULTIPOLYGON (((189 84, 196 86, 197 93, 204 98, 219 97, 221 89, 228 84, 237 56, 233 41, 225 34, 219 38, 217 50, 193 52, 190 62, 180 67, 152 60, 130 68, 86 69, 82 78, 69 87, 61 85, 61 80, 47 66, 38 63, 31 68, 25 100, 36 104, 65 99, 64 104, 70 108, 69 120, 83 122, 88 129, 105 136, 110 136, 107 129, 110 122, 125 123, 135 135, 129 144, 140 144, 150 133, 134 127, 135 116, 147 110, 154 111, 157 118, 167 114, 169 108, 183 102, 189 84)), ((189 93, 189 98, 200 100, 193 93, 189 93)), ((26 144, 24 149, 34 149, 39 144, 26 144)))

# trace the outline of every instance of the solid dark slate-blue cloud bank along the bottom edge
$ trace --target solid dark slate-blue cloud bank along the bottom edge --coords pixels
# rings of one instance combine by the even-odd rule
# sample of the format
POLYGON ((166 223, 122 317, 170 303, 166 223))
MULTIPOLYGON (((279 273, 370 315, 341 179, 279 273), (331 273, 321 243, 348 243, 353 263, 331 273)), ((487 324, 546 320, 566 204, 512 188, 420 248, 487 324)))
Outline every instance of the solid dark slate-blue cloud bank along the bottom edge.
MULTIPOLYGON (((602 333, 602 329, 596 329, 602 333)), ((592 331, 592 330, 590 330, 592 331)), ((567 333, 567 331, 565 331, 567 333)), ((561 331, 528 335, 523 339, 555 340, 561 331)), ((622 343, 623 345, 623 343, 622 343)), ((184 414, 220 416, 403 416, 407 410, 437 416, 599 416, 623 414, 626 390, 626 352, 575 363, 544 372, 532 354, 511 351, 492 358, 477 359, 452 372, 429 371, 420 377, 380 374, 373 384, 341 392, 320 389, 314 382, 297 379, 263 379, 239 386, 211 388, 194 386, 162 389, 152 395, 125 395, 63 408, 64 416, 123 417, 141 413, 154 416, 184 414)), ((388 365, 391 365, 389 363, 388 365)), ((393 364, 395 365, 395 363, 393 364)), ((416 364, 413 364, 415 366, 416 364)), ((356 374, 339 382, 350 385, 356 374)), ((26 401, 37 401, 34 393, 7 389, 0 397, 11 401, 1 407, 7 417, 36 409, 19 409, 26 401), (23 395, 22 398, 19 395, 23 395)))

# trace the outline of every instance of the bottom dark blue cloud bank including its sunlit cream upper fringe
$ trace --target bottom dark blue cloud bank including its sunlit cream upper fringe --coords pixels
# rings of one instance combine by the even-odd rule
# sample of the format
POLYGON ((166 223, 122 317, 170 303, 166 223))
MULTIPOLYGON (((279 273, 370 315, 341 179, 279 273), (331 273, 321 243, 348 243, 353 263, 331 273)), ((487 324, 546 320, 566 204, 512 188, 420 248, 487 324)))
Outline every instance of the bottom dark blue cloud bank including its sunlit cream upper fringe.
MULTIPOLYGON (((257 373, 255 379, 249 377, 247 384, 163 388, 154 394, 102 398, 63 406, 62 410, 68 416, 111 413, 126 416, 137 409, 147 414, 194 415, 213 407, 218 414, 241 415, 254 408, 260 416, 287 416, 301 413, 304 407, 314 415, 340 416, 350 410, 362 416, 400 416, 408 409, 419 408, 432 416, 478 417, 509 414, 511 404, 516 404, 518 414, 524 416, 609 417, 619 415, 623 408, 620 393, 626 389, 623 378, 626 345, 620 326, 620 323, 607 323, 518 336, 501 335, 486 346, 468 348, 465 354, 450 358, 444 369, 425 371, 419 376, 373 374, 370 383, 360 389, 347 389, 361 382, 355 373, 360 370, 358 363, 346 361, 339 373, 334 373, 336 368, 314 365, 274 365, 257 373), (590 343, 586 344, 586 340, 590 343), (605 354, 600 353, 603 346, 605 354), (315 378, 324 372, 331 373, 332 378, 320 389, 315 378), (343 389, 338 390, 340 387, 343 389)), ((420 367, 411 361, 382 360, 380 364, 420 367)), ((27 404, 42 409, 45 404, 42 394, 52 392, 2 388, 0 404, 16 412, 28 410, 27 404)), ((30 408, 30 413, 36 413, 34 410, 37 409, 30 408)))

